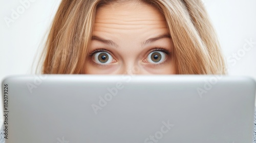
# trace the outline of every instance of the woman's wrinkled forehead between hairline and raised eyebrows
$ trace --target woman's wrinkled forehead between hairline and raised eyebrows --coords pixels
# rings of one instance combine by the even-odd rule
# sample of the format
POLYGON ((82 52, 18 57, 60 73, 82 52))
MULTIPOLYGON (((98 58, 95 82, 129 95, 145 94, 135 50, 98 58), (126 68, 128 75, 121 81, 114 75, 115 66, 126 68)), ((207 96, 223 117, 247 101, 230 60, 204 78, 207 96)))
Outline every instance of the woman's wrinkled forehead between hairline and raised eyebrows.
POLYGON ((94 31, 139 32, 166 30, 163 15, 153 6, 142 2, 112 3, 97 9, 94 31))

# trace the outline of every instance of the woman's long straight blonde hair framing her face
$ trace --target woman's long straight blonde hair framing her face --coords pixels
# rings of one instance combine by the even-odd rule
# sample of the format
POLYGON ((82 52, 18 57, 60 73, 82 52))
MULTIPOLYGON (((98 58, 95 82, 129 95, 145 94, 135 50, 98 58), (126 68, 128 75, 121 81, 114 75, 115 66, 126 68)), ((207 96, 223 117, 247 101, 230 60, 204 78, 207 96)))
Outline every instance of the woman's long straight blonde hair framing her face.
MULTIPOLYGON (((96 10, 114 2, 127 1, 63 0, 46 41, 42 74, 83 74, 96 10)), ((141 2, 166 19, 176 74, 225 74, 218 38, 200 0, 141 2)))

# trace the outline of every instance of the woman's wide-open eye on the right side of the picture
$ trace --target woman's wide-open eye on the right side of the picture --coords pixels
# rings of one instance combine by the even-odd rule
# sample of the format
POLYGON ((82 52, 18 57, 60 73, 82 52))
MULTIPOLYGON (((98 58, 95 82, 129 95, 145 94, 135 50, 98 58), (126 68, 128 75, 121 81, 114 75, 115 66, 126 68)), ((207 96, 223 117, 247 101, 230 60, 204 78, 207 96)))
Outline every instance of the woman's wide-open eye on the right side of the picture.
POLYGON ((150 63, 162 63, 166 59, 166 53, 154 51, 148 54, 146 61, 150 63))

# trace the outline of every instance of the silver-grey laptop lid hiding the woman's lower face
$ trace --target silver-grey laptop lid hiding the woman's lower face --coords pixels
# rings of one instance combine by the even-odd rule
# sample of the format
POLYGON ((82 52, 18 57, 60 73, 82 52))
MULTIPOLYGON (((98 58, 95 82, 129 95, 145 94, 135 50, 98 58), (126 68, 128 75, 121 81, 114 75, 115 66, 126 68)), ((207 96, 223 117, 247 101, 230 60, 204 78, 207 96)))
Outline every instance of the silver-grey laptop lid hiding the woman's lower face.
POLYGON ((12 76, 2 96, 7 143, 252 142, 248 77, 12 76))

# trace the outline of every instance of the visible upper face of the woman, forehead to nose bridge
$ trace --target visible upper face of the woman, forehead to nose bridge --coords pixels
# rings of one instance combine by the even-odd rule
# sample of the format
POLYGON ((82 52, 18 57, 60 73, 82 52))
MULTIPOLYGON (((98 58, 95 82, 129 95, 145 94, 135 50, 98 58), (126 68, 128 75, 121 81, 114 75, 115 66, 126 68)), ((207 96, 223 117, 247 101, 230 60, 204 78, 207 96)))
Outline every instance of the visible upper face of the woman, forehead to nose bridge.
POLYGON ((97 9, 85 74, 175 74, 165 18, 139 2, 97 9))

